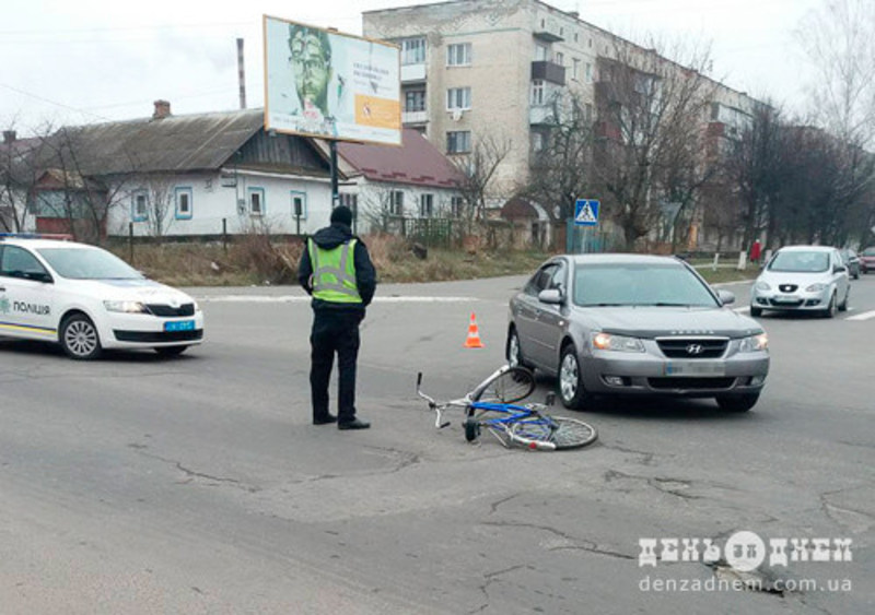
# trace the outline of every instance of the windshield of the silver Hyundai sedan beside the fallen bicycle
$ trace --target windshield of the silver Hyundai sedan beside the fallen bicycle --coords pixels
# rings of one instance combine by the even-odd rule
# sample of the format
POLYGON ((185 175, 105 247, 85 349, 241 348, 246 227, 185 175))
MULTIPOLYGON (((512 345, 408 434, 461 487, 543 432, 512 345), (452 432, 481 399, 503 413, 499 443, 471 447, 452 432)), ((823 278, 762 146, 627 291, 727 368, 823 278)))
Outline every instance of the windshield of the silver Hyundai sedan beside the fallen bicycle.
POLYGON ((574 304, 581 307, 716 307, 708 286, 675 263, 578 264, 574 304))

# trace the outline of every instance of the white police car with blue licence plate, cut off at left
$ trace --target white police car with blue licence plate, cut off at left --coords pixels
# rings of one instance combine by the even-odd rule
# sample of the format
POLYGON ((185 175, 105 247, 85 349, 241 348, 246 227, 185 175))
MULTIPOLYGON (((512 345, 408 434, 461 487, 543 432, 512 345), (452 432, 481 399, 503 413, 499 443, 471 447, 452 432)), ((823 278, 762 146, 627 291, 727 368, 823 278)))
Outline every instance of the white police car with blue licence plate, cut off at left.
POLYGON ((178 355, 203 340, 203 314, 185 293, 116 256, 38 235, 0 235, 0 335, 57 342, 75 359, 104 348, 178 355))

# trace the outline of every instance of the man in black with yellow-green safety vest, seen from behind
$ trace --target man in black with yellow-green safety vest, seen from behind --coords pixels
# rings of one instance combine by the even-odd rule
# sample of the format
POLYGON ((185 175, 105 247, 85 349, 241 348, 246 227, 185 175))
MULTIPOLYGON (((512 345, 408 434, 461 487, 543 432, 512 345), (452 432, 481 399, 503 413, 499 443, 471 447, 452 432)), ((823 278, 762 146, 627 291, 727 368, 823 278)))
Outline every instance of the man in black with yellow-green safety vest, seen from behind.
POLYGON ((352 234, 352 212, 340 205, 331 212, 331 224, 307 239, 301 255, 298 281, 313 297, 313 331, 310 335, 310 388, 313 424, 337 422, 340 429, 368 429, 371 424, 355 417, 355 362, 359 356, 359 323, 376 289, 376 272, 365 245, 352 234), (338 413, 328 411, 328 383, 337 353, 338 413))

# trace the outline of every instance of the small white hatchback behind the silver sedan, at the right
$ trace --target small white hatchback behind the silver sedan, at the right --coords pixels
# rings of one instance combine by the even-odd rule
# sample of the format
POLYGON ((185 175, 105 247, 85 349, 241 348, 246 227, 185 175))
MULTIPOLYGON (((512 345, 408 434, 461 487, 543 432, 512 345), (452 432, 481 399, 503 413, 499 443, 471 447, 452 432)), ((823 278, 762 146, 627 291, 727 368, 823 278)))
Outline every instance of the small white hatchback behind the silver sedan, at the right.
POLYGON ((847 310, 848 268, 836 248, 788 246, 778 250, 754 283, 750 316, 763 310, 809 311, 832 318, 847 310))

